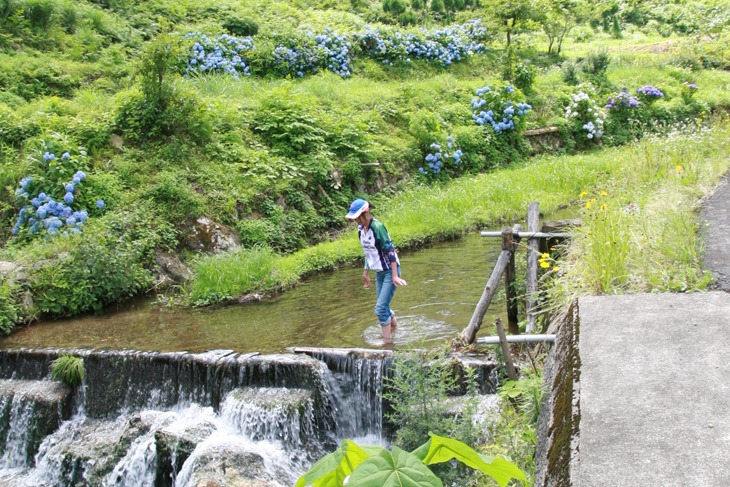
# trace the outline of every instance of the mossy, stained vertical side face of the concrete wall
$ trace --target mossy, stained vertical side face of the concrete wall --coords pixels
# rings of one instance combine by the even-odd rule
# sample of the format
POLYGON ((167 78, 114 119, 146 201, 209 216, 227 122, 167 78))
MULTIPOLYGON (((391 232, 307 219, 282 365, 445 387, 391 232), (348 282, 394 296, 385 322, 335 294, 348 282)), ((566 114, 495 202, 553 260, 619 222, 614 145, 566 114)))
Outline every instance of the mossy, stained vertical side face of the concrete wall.
POLYGON ((535 487, 578 485, 571 475, 577 465, 580 424, 580 319, 575 302, 550 324, 557 335, 543 371, 545 396, 540 408, 535 451, 535 487))

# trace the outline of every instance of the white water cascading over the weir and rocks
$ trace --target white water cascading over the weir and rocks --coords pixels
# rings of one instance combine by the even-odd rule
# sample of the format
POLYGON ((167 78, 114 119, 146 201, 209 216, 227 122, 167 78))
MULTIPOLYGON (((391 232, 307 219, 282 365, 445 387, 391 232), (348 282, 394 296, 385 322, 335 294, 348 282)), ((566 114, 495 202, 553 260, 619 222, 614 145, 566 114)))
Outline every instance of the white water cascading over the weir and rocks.
POLYGON ((59 353, 0 351, 1 485, 291 486, 345 437, 385 441, 382 358, 75 351, 86 375, 71 394, 47 377, 59 353), (30 383, 57 403, 35 445, 48 400, 30 383))

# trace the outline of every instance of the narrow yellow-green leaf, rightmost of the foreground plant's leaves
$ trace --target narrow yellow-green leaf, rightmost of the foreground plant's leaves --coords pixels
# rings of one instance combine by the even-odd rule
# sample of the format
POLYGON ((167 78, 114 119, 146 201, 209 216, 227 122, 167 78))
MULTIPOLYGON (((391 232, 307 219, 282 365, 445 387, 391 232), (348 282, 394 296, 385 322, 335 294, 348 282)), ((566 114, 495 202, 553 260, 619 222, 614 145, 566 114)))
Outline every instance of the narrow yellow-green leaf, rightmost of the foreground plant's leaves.
POLYGON ((459 460, 465 465, 480 470, 491 476, 500 487, 507 485, 510 479, 527 480, 525 474, 512 462, 503 458, 491 458, 481 455, 459 440, 445 438, 443 436, 429 433, 431 439, 425 445, 419 447, 414 453, 423 460, 426 465, 448 462, 452 458, 459 460), (428 451, 423 455, 424 447, 428 445, 428 451))

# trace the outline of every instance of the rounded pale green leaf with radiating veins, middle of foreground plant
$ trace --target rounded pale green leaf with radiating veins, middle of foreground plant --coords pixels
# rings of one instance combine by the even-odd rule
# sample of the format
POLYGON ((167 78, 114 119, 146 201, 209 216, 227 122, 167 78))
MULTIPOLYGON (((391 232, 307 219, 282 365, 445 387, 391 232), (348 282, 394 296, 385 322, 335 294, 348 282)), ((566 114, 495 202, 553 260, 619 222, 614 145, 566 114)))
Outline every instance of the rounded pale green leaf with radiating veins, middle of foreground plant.
POLYGON ((347 487, 442 487, 441 480, 413 453, 397 446, 360 464, 347 487))

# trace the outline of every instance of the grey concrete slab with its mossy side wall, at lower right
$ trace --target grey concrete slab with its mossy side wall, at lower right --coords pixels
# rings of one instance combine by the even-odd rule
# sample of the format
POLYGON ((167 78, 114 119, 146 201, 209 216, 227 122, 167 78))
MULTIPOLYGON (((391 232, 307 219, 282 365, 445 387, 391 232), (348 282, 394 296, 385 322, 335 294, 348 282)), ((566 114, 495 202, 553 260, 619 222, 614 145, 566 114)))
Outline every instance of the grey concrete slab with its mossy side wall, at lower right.
POLYGON ((730 294, 586 297, 561 330, 536 486, 730 485, 730 294))

